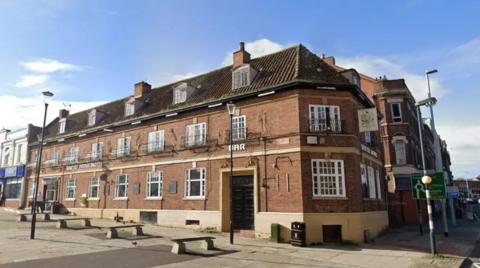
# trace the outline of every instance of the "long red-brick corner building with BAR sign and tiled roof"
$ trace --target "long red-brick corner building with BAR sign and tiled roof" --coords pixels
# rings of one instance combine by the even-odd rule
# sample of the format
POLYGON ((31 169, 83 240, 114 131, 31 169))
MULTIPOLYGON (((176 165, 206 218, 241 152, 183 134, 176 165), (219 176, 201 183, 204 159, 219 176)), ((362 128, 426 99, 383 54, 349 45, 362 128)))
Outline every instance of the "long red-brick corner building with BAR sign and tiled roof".
POLYGON ((307 243, 362 243, 388 215, 378 136, 359 133, 357 111, 374 105, 358 79, 302 45, 250 59, 241 44, 233 65, 60 111, 46 127, 41 187, 78 215, 228 231, 232 184, 236 230, 268 237, 279 223, 288 241, 302 221, 307 243))

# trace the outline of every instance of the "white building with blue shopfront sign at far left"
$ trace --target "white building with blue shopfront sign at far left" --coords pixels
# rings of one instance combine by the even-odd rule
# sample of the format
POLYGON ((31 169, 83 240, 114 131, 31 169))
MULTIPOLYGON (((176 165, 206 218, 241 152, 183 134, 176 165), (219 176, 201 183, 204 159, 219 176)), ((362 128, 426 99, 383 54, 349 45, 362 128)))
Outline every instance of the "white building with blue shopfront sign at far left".
POLYGON ((24 207, 25 204, 25 164, 27 163, 28 144, 39 128, 28 125, 27 128, 10 131, 0 130, 0 192, 5 197, 5 206, 24 207))

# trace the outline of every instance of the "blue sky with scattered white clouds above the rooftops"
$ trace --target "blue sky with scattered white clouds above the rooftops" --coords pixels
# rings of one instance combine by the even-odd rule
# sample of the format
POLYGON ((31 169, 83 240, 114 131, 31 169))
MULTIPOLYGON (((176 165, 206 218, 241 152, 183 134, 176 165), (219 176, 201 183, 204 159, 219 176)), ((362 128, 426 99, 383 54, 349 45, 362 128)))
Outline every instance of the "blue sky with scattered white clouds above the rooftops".
MULTIPOLYGON (((0 0, 0 125, 50 117, 218 68, 247 42, 262 55, 302 43, 358 71, 406 78, 417 98, 437 68, 435 119, 457 177, 480 174, 480 2, 0 0), (15 113, 16 116, 11 116, 15 113)), ((427 115, 427 113, 424 113, 427 115)))

